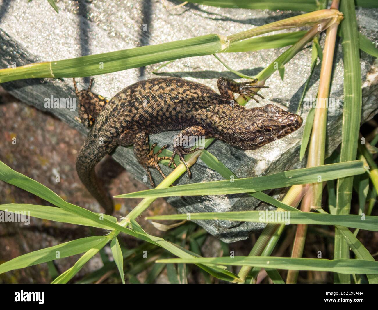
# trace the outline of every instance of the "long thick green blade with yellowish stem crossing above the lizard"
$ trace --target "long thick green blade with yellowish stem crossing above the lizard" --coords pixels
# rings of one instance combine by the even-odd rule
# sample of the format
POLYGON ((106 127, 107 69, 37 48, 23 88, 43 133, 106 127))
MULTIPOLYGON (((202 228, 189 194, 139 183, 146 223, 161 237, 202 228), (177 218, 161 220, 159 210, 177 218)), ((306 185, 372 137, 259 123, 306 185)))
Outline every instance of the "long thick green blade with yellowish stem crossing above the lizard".
MULTIPOLYGON (((274 23, 255 27, 251 30, 235 33, 228 37, 218 34, 208 34, 192 39, 168 42, 157 45, 130 48, 127 50, 102 53, 97 55, 82 56, 79 58, 65 59, 51 62, 29 64, 16 68, 0 70, 0 83, 25 78, 72 78, 111 73, 136 67, 143 67, 158 62, 174 59, 211 55, 225 51, 230 44, 249 39, 260 34, 288 29, 299 26, 321 23, 323 30, 339 18, 337 10, 321 10, 299 16, 289 17, 274 23), (325 20, 325 21, 324 21, 325 20)), ((289 61, 307 42, 319 31, 311 30, 299 40, 292 48, 289 48, 279 58, 279 67, 289 61)), ((269 67, 264 71, 266 78, 275 70, 269 67)))

